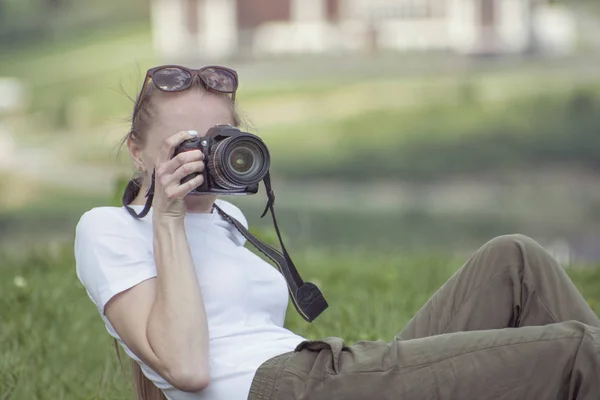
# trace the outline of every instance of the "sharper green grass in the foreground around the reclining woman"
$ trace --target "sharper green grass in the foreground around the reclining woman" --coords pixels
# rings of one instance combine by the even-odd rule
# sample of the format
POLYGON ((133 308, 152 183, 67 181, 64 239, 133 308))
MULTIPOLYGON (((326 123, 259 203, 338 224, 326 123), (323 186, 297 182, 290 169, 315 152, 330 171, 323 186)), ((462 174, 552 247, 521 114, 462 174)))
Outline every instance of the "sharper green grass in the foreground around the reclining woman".
MULTIPOLYGON (((41 246, 27 256, 1 258, 1 399, 131 398, 126 370, 75 276, 71 252, 71 246, 41 246)), ((286 326, 309 338, 339 336, 348 343, 390 340, 462 262, 443 255, 364 252, 311 251, 295 258, 330 308, 307 324, 290 306, 286 326)), ((598 312, 600 270, 570 273, 598 312)))

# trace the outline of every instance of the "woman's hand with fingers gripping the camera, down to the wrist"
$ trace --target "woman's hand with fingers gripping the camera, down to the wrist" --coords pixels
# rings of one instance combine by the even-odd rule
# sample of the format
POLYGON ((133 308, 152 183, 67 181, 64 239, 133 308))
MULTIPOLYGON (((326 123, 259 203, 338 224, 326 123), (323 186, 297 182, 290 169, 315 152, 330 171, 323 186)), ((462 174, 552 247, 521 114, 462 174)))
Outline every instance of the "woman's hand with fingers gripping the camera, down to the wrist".
POLYGON ((183 198, 204 182, 204 177, 199 174, 181 183, 186 176, 204 170, 204 154, 200 150, 186 151, 171 158, 177 146, 197 135, 195 131, 182 131, 164 141, 155 167, 154 217, 182 219, 186 213, 183 198))

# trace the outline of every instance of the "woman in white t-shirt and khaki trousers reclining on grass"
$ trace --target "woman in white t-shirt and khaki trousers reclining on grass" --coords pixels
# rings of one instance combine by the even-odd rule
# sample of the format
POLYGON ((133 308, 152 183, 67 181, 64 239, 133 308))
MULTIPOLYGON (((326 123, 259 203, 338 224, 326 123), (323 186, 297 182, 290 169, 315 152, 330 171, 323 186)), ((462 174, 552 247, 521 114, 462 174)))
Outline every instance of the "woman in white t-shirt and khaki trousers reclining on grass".
POLYGON ((142 399, 598 399, 600 321, 533 240, 479 249, 389 343, 308 341, 283 328, 279 272, 243 247, 184 140, 238 125, 226 68, 149 71, 126 141, 139 176, 126 198, 146 218, 100 207, 77 226, 77 273, 108 332, 139 365, 142 399), (157 391, 159 388, 160 391, 157 391))

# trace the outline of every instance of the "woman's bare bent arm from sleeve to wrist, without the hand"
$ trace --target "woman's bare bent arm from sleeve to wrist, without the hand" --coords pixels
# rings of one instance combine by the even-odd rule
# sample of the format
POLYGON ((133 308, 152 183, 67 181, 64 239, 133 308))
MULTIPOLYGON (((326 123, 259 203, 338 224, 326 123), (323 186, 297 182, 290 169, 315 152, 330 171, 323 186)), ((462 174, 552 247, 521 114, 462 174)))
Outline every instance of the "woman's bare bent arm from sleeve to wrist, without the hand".
POLYGON ((125 344, 174 387, 208 386, 208 326, 184 227, 154 222, 157 277, 115 296, 105 313, 125 344))

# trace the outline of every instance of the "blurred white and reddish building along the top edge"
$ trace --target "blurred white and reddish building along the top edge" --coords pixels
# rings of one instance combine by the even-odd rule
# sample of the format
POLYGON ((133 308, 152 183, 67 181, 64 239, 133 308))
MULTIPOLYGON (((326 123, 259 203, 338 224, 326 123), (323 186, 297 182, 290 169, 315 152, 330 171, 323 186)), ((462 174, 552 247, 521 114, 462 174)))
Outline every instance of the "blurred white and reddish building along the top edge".
POLYGON ((547 0, 153 0, 169 58, 372 50, 565 53, 567 10, 547 0))

